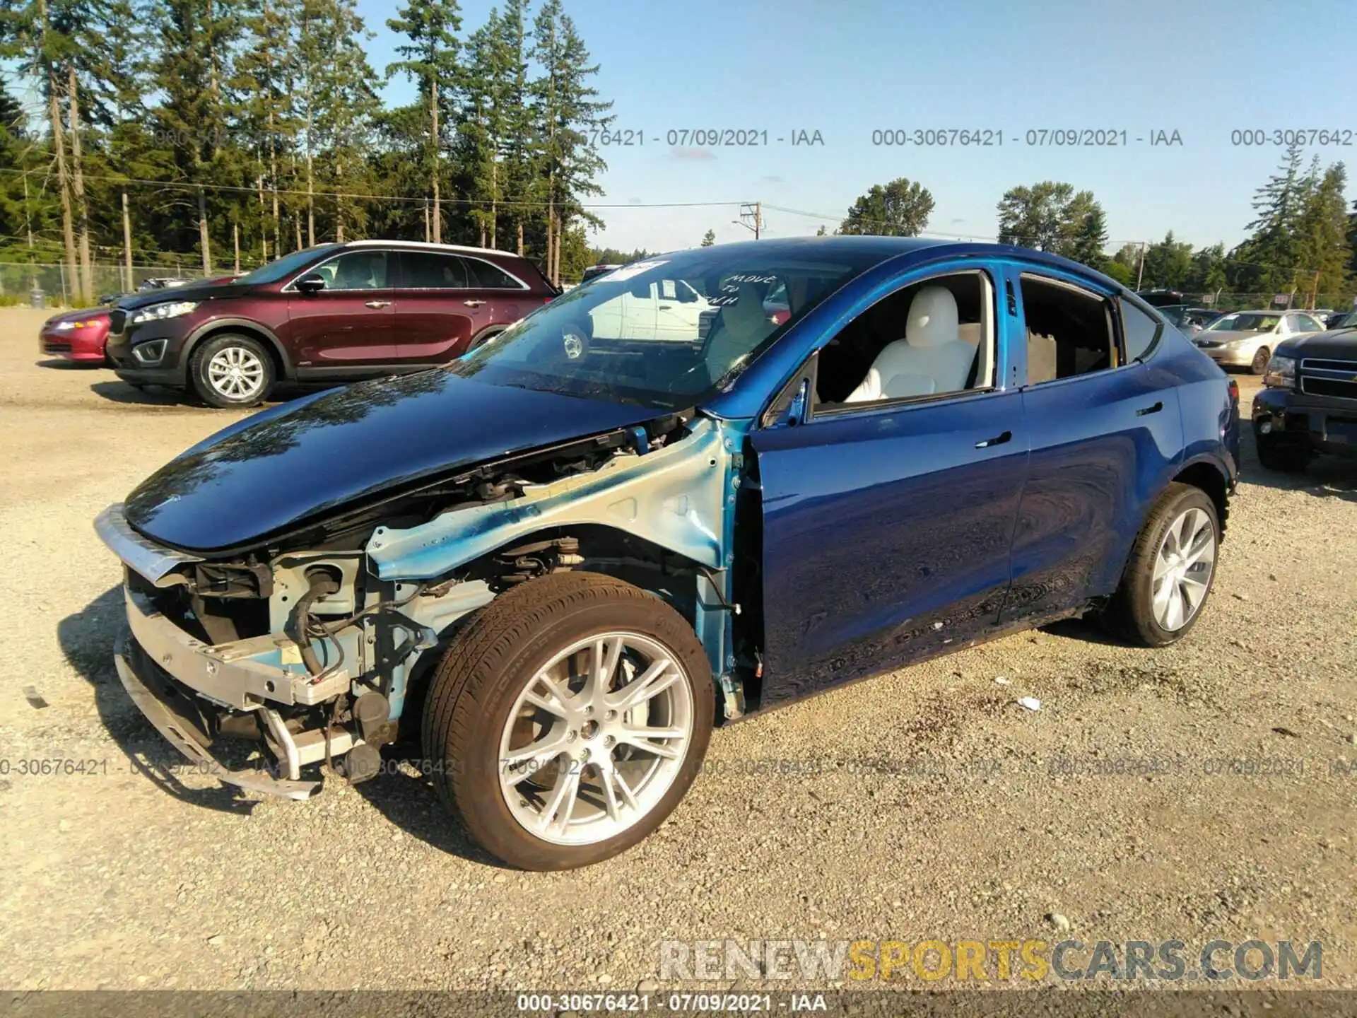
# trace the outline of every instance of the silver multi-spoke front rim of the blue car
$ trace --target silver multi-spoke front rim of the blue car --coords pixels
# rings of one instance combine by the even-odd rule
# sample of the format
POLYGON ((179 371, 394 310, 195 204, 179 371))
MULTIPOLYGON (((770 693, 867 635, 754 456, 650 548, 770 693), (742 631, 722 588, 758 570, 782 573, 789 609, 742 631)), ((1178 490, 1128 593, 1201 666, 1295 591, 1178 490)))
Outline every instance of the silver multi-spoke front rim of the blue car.
POLYGON ((518 694, 499 737, 499 791, 552 844, 597 844, 654 809, 692 741, 692 683, 639 633, 585 637, 518 694))

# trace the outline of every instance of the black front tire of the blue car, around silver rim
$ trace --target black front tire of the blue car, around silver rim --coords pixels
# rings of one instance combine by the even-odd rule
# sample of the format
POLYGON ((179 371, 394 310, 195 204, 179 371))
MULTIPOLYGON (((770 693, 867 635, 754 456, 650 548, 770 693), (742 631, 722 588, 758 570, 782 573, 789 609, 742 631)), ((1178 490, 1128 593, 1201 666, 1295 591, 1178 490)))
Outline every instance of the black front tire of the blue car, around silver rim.
POLYGON ((429 684, 422 741, 438 798, 482 847, 520 869, 566 870, 612 858, 664 823, 706 756, 714 714, 707 654, 678 612, 613 577, 555 573, 501 595, 453 639, 429 684), (539 668, 573 642, 617 628, 661 643, 683 665, 692 694, 687 756, 668 791, 631 827, 592 844, 555 844, 509 810, 499 790, 499 737, 539 668))

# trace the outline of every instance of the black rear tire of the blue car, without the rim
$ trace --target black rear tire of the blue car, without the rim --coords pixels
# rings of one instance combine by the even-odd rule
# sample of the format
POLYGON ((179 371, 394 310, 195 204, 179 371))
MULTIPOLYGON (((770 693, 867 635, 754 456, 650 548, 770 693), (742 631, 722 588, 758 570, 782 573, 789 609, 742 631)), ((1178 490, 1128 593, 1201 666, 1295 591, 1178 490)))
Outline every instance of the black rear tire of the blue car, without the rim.
POLYGON ((1206 592, 1193 616, 1181 628, 1170 630, 1159 624, 1153 611, 1153 570, 1164 533, 1175 520, 1189 509, 1201 509, 1210 520, 1216 548, 1220 547, 1220 517, 1216 504, 1200 487, 1172 483, 1149 510, 1145 525, 1140 528, 1136 543, 1130 546, 1130 557, 1121 577, 1121 585, 1102 612, 1102 622, 1115 635, 1149 647, 1163 647, 1186 637, 1201 618, 1210 600, 1210 588, 1216 580, 1215 566, 1206 581, 1206 592))

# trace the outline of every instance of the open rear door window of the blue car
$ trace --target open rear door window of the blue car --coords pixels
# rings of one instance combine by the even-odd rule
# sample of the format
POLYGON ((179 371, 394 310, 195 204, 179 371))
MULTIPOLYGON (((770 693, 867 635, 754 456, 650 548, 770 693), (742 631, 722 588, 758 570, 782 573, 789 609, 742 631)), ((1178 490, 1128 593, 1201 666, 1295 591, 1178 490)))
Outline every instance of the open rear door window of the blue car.
POLYGON ((1027 384, 1072 379, 1117 364, 1111 304, 1079 286, 1022 277, 1027 384))

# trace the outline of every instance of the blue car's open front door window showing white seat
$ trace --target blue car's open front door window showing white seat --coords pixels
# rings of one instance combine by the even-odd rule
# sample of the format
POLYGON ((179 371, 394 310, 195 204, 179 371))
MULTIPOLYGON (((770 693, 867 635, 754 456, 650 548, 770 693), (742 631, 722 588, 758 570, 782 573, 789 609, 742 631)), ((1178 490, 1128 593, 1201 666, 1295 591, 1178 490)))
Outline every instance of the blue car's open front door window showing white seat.
POLYGON ((858 315, 820 352, 816 410, 930 399, 995 384, 995 286, 980 270, 920 280, 858 315))

